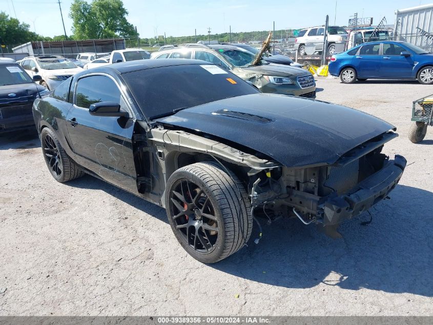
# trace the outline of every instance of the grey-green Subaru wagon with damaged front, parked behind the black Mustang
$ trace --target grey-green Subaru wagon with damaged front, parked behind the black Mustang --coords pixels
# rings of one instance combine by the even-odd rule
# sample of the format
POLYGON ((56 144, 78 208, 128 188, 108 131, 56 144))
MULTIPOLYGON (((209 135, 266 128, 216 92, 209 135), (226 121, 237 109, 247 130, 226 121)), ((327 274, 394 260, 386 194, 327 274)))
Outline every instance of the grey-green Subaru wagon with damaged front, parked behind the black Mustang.
MULTIPOLYGON (((310 72, 297 67, 270 64, 265 61, 262 61, 260 65, 253 66, 255 54, 232 45, 186 44, 153 52, 151 59, 207 61, 233 72, 238 77, 253 84, 261 92, 308 98, 316 97, 316 83, 310 72)), ((223 69, 219 69, 220 71, 217 73, 224 73, 223 69)), ((229 80, 229 82, 231 81, 229 80)))

